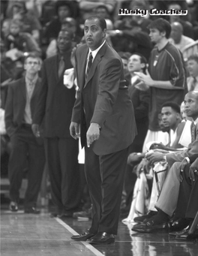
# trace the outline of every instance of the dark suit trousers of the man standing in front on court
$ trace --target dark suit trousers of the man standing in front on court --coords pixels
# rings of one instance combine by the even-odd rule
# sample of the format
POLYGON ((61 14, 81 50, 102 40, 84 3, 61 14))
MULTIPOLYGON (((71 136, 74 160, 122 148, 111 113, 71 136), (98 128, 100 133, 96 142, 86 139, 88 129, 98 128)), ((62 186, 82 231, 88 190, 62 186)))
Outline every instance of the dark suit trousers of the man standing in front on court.
POLYGON ((93 205, 90 233, 117 234, 127 152, 98 156, 86 147, 86 179, 93 205))

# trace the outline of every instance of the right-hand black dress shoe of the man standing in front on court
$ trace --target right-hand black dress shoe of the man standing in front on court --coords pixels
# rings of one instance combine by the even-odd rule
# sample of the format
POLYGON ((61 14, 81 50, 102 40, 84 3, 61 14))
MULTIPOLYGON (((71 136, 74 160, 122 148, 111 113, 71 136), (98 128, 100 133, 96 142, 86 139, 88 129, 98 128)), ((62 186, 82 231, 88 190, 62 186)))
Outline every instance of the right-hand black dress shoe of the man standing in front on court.
POLYGON ((115 236, 112 233, 98 232, 91 239, 88 239, 87 242, 95 245, 107 245, 115 242, 115 236))

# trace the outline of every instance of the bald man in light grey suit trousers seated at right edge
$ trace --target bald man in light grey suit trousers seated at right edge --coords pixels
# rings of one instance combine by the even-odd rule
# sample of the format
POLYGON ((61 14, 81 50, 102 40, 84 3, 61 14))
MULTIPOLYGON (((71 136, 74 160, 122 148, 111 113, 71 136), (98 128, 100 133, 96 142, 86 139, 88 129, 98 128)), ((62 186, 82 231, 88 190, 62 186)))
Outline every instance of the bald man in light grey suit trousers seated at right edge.
POLYGON ((192 142, 186 150, 181 152, 172 152, 168 154, 151 152, 146 156, 151 163, 156 161, 167 161, 169 166, 172 167, 169 169, 163 188, 160 191, 160 197, 155 204, 155 207, 158 209, 157 215, 146 220, 145 225, 143 224, 140 225, 140 227, 133 227, 133 230, 135 231, 150 233, 154 230, 167 227, 166 224, 169 220, 168 215, 172 216, 178 200, 178 190, 181 181, 180 170, 184 169, 185 164, 188 162, 190 163, 190 157, 197 154, 198 131, 196 124, 198 122, 198 92, 188 92, 187 95, 185 95, 184 104, 187 116, 190 116, 193 119, 191 125, 192 142), (172 194, 174 194, 174 197, 172 197, 172 194))

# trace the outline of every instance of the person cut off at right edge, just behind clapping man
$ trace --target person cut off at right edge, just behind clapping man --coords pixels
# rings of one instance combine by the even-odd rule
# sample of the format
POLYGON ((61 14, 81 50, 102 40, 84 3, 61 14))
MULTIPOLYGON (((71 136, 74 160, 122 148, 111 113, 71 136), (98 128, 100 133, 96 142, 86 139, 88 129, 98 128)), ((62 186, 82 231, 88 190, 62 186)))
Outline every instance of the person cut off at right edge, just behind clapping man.
POLYGON ((187 59, 187 71, 190 77, 187 77, 188 91, 198 91, 198 53, 187 59))

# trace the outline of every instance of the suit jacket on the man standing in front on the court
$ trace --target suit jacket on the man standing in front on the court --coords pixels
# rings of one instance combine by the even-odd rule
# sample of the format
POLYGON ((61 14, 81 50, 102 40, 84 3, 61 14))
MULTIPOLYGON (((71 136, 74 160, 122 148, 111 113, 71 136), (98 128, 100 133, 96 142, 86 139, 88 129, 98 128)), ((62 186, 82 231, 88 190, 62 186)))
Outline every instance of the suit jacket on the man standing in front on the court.
POLYGON ((105 43, 95 56, 85 83, 89 48, 77 48, 77 84, 80 88, 72 121, 80 123, 82 146, 91 122, 101 126, 99 140, 92 143, 96 155, 107 155, 127 148, 136 135, 133 105, 125 86, 124 71, 118 53, 105 43), (86 113, 86 116, 85 114, 86 113))

